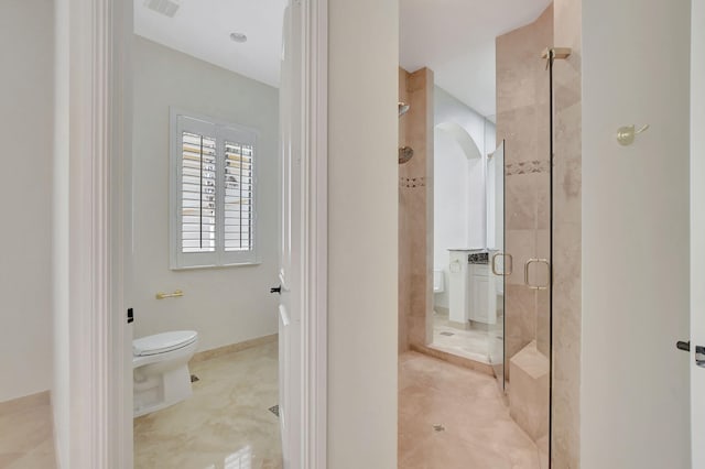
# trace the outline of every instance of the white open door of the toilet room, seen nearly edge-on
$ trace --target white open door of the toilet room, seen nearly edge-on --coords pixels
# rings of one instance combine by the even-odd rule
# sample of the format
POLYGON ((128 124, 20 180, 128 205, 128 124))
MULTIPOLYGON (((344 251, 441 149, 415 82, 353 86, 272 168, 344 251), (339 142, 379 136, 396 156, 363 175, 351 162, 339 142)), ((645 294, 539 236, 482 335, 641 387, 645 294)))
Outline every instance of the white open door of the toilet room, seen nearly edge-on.
POLYGON ((281 248, 279 282, 279 418, 285 469, 301 468, 301 3, 284 13, 280 87, 281 248))

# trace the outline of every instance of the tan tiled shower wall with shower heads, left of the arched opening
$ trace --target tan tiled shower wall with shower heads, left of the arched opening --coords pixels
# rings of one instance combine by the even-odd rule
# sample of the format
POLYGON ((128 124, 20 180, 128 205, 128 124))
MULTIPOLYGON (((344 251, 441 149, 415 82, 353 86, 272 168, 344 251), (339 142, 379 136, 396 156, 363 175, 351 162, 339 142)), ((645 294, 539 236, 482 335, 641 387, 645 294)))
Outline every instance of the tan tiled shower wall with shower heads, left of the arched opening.
MULTIPOLYGON (((424 347, 433 316, 433 72, 399 69, 399 146, 413 157, 399 165, 399 351, 424 347)), ((397 157, 397 155, 394 155, 397 157)))

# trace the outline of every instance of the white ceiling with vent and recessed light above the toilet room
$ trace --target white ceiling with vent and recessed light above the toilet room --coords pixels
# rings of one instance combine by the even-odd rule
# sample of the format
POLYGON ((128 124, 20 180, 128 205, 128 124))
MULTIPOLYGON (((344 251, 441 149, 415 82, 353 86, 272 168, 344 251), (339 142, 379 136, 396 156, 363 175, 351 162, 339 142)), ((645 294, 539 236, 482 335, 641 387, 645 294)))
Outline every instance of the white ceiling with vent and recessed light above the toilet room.
POLYGON ((134 32, 185 54, 279 86, 286 0, 175 0, 174 18, 134 0, 134 32), (236 43, 230 33, 245 33, 236 43))

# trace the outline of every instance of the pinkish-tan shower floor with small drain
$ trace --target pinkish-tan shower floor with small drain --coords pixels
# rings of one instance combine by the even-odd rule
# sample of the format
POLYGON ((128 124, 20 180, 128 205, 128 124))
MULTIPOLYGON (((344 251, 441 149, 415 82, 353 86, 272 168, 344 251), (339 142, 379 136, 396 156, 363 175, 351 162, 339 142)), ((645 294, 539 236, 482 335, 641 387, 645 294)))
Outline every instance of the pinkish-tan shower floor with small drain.
POLYGON ((398 451, 399 469, 541 467, 494 378, 416 352, 399 360, 398 451))

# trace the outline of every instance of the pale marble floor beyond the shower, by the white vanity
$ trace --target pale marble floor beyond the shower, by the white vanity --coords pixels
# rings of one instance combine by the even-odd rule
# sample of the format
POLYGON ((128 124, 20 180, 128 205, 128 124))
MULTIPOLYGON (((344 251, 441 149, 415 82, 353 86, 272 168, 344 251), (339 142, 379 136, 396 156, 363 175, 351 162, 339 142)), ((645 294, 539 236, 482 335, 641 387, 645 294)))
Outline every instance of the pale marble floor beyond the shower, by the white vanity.
POLYGON ((497 327, 490 330, 459 329, 449 325, 448 316, 441 313, 433 314, 433 342, 431 347, 469 358, 480 363, 492 364, 492 357, 501 360, 502 340, 497 327), (497 349, 496 353, 492 353, 497 349))

